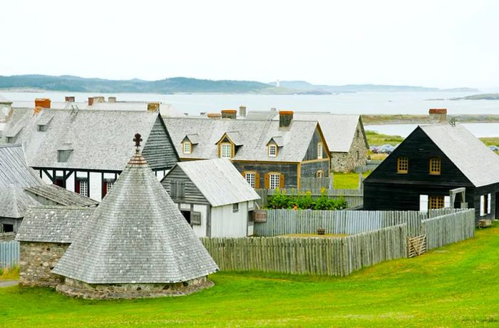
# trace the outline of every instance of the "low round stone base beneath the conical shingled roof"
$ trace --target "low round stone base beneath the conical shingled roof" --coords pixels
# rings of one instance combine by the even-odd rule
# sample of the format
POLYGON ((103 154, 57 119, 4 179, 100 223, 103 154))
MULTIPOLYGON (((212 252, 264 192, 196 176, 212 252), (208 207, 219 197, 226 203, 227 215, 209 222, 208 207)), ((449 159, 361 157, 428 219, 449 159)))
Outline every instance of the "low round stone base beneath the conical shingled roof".
POLYGON ((67 296, 84 299, 133 299, 182 296, 213 285, 207 277, 175 284, 87 284, 66 277, 64 284, 57 286, 57 291, 67 296))

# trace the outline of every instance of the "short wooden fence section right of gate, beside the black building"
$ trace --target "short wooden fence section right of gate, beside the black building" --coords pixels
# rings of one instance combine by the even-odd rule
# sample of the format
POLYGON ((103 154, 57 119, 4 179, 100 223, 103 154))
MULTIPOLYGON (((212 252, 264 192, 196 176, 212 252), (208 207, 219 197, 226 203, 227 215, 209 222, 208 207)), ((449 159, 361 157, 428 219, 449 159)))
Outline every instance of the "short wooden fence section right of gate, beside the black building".
POLYGON ((426 250, 475 236, 475 210, 463 210, 423 220, 426 250))

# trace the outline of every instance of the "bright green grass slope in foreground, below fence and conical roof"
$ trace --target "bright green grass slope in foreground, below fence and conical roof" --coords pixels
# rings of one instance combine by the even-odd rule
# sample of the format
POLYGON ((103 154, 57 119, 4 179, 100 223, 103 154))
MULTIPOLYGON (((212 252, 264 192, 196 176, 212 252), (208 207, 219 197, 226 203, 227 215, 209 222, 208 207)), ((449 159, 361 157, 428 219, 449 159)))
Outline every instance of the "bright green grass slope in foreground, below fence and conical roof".
POLYGON ((187 297, 71 299, 0 289, 4 327, 482 327, 499 325, 499 227, 349 277, 224 272, 187 297))

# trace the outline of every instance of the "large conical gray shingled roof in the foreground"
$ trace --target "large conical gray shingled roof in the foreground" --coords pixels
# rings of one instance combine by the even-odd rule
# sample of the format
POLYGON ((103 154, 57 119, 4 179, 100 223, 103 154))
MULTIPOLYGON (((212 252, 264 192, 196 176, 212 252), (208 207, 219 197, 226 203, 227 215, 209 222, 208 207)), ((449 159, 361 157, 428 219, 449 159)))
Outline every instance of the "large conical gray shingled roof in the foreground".
POLYGON ((217 270, 137 152, 53 272, 113 284, 185 282, 217 270))

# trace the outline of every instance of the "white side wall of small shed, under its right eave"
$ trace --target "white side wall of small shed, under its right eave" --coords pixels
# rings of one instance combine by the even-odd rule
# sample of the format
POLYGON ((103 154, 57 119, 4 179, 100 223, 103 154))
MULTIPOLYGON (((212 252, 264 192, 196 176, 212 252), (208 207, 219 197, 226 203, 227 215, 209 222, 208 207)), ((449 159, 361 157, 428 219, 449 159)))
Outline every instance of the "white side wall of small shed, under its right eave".
POLYGON ((232 204, 212 207, 212 237, 246 237, 248 203, 240 203, 232 212, 232 204))

